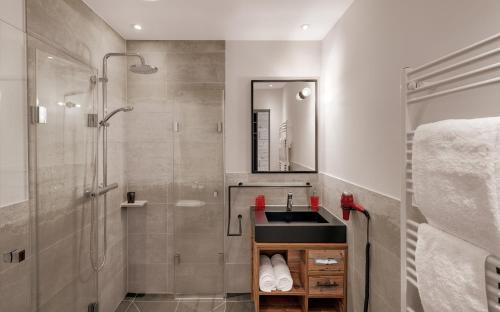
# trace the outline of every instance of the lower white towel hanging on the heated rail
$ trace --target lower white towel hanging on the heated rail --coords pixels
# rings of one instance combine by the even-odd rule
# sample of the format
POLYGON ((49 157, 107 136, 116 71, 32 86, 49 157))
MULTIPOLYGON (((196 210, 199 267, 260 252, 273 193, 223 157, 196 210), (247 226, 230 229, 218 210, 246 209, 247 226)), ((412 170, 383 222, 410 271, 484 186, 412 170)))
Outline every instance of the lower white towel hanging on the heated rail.
POLYGON ((425 312, 487 312, 489 253, 430 225, 418 228, 418 291, 425 312))

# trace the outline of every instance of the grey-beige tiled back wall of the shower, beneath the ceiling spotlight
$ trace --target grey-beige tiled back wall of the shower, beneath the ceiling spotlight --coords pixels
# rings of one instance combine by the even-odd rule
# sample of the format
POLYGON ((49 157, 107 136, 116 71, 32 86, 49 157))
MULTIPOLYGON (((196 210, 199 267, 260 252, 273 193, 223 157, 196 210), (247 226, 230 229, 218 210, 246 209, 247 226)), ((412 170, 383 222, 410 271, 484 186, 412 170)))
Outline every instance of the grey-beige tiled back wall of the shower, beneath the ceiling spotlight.
POLYGON ((222 290, 223 136, 216 123, 223 119, 225 43, 128 41, 127 51, 159 68, 128 74, 128 190, 148 201, 127 209, 128 290, 222 290), (205 205, 176 207, 183 199, 205 205), (182 257, 176 267, 175 253, 182 257))

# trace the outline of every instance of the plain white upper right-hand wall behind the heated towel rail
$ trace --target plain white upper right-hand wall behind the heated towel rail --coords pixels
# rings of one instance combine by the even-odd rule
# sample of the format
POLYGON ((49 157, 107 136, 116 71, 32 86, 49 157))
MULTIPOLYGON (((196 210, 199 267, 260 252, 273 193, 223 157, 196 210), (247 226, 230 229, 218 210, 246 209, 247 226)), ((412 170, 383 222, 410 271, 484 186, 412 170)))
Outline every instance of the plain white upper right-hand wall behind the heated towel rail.
MULTIPOLYGON (((320 171, 399 198, 400 69, 497 33, 499 12, 496 0, 356 0, 322 43, 320 171)), ((418 116, 499 115, 495 94, 442 98, 418 116)))

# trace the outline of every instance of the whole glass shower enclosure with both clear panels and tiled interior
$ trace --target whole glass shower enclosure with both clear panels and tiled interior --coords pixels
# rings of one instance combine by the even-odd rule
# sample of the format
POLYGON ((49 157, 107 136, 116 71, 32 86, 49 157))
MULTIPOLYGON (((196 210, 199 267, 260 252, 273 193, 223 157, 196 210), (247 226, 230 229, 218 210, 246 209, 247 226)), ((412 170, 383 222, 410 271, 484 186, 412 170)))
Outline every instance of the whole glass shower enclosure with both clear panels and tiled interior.
POLYGON ((150 95, 129 95, 128 103, 114 98, 108 110, 105 88, 100 93, 108 81, 97 69, 51 48, 30 51, 37 311, 112 312, 113 280, 123 281, 118 296, 131 291, 223 297, 223 81, 180 75, 186 64, 179 55, 165 53, 157 64, 146 53, 159 74, 142 75, 156 70, 133 66, 144 61, 129 58, 128 92, 167 86, 162 106, 150 95), (167 68, 174 74, 166 74, 167 68), (114 117, 121 111, 127 114, 114 117), (109 120, 102 120, 106 114, 109 120), (109 153, 109 178, 103 153, 109 153), (106 196, 92 196, 114 182, 118 187, 106 196), (154 193, 153 184, 162 187, 154 193), (147 208, 120 208, 127 191, 148 200, 147 208), (158 209, 165 227, 156 231, 140 216, 151 218, 158 209), (129 228, 128 236, 120 224, 129 228), (128 277, 120 275, 122 266, 128 277))

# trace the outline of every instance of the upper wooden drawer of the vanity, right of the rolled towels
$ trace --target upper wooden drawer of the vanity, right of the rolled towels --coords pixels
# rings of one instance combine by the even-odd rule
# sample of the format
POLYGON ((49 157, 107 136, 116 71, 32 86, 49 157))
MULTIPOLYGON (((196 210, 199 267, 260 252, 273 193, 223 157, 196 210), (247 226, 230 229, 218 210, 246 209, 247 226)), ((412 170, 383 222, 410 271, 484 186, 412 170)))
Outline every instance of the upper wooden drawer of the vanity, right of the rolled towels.
POLYGON ((343 273, 345 250, 309 250, 308 268, 311 274, 343 273), (335 263, 324 264, 321 260, 335 263))

